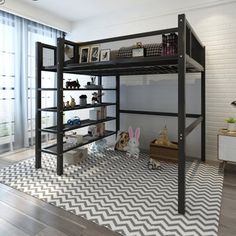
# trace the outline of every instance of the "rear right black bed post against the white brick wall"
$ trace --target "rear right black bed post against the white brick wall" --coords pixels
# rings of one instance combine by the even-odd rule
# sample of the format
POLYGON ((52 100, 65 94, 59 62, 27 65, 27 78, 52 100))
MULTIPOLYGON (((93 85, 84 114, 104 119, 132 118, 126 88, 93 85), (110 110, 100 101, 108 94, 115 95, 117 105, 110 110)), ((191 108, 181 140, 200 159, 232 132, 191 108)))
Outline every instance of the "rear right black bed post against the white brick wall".
POLYGON ((201 160, 206 160, 206 49, 203 48, 202 61, 204 70, 201 72, 201 160))

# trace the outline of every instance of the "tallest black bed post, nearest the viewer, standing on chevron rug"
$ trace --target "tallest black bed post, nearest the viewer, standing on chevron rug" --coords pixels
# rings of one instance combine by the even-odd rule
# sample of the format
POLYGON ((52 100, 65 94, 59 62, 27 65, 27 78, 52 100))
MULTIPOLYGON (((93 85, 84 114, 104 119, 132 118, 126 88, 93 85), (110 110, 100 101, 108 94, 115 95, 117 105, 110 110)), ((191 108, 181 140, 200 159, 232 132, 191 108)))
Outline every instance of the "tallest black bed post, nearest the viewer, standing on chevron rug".
POLYGON ((185 73, 186 73, 186 19, 178 16, 178 212, 185 213, 185 73))

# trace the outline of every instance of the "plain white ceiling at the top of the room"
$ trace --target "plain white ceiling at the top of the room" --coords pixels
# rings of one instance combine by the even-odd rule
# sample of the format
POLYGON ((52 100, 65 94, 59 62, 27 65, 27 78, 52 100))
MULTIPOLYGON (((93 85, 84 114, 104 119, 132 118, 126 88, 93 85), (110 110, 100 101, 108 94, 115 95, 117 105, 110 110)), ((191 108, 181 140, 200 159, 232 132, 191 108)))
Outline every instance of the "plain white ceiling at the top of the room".
MULTIPOLYGON (((6 0, 7 1, 7 0, 6 0)), ((150 0, 17 0, 41 8, 68 21, 85 18, 146 4, 150 0)))

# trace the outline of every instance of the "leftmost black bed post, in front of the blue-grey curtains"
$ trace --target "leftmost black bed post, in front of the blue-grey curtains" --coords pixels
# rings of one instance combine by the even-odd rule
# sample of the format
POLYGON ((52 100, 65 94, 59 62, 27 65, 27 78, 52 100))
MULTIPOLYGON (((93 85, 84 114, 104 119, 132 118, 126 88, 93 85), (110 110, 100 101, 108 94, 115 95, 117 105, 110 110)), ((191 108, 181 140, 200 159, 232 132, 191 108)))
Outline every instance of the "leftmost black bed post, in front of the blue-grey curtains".
POLYGON ((36 80, 36 95, 35 95, 35 105, 36 105, 36 114, 35 114, 35 168, 41 168, 41 70, 43 64, 43 47, 42 44, 36 43, 36 71, 35 71, 35 80, 36 80))

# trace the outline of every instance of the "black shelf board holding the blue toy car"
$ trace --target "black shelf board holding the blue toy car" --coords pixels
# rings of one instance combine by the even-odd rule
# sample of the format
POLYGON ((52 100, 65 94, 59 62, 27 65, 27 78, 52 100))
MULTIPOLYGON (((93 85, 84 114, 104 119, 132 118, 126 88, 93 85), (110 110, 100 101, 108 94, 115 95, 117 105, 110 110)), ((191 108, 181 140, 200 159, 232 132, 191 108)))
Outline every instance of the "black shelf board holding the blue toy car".
MULTIPOLYGON (((67 132, 67 131, 71 131, 71 130, 75 130, 75 129, 80 129, 80 128, 84 128, 86 126, 90 126, 90 125, 96 125, 102 122, 107 122, 107 121, 112 121, 112 120, 116 120, 115 117, 106 117, 105 119, 101 119, 101 120, 90 120, 90 119, 86 119, 86 120, 82 120, 80 125, 68 125, 68 124, 64 124, 63 125, 63 133, 67 132)), ((57 133, 57 126, 51 126, 51 127, 47 127, 44 129, 41 129, 42 132, 48 132, 48 133, 57 133)))

